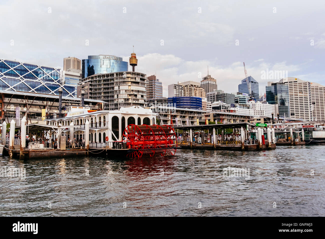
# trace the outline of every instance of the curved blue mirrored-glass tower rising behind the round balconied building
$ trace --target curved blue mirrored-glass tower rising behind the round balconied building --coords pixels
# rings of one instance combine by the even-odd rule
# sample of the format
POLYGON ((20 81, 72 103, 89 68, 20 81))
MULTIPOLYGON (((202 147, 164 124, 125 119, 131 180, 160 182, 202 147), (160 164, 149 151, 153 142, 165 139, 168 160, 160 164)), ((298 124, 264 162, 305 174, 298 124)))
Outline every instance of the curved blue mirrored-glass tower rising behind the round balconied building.
POLYGON ((122 57, 111 55, 88 56, 82 60, 82 78, 94 74, 105 74, 113 72, 128 71, 128 62, 123 61, 122 57))

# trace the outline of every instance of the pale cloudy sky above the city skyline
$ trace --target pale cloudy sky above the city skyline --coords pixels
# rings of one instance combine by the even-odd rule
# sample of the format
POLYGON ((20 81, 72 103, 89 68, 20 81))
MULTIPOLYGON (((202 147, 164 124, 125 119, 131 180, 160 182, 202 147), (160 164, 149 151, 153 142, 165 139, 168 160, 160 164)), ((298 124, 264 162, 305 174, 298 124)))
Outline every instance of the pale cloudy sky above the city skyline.
POLYGON ((1 0, 0 58, 62 68, 69 56, 128 61, 134 45, 136 71, 156 73, 164 96, 207 66, 236 92, 243 62, 261 93, 277 71, 325 85, 324 12, 325 1, 1 0))

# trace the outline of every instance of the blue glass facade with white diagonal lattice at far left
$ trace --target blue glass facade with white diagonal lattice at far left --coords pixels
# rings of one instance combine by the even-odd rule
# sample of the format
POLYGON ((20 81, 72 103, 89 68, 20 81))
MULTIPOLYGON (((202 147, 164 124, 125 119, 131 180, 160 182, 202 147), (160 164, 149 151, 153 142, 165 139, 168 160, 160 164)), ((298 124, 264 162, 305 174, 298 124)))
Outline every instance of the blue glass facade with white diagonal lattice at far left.
POLYGON ((60 69, 0 60, 0 89, 55 94, 62 87, 62 96, 74 97, 75 87, 60 84, 60 69))

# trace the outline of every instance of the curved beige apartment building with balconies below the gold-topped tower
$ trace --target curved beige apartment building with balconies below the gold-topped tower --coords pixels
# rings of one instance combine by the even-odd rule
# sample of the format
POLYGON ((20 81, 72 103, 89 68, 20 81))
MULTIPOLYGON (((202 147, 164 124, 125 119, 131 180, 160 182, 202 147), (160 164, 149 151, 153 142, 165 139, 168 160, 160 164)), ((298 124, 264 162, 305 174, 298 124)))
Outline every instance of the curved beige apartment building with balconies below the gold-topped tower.
POLYGON ((139 72, 114 72, 95 74, 82 79, 77 96, 85 90, 85 98, 106 102, 103 110, 118 110, 121 107, 146 106, 147 75, 139 72))

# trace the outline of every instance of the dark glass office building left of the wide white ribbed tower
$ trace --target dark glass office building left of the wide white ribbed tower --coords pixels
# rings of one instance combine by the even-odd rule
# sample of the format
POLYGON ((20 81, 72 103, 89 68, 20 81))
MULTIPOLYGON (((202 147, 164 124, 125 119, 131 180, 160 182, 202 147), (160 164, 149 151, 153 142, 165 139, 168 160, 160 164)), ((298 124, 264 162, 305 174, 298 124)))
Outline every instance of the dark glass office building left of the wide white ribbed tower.
POLYGON ((290 116, 289 86, 284 83, 271 83, 266 86, 266 101, 275 105, 276 113, 281 117, 290 116))

